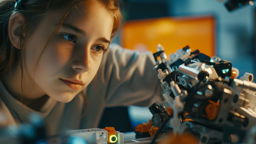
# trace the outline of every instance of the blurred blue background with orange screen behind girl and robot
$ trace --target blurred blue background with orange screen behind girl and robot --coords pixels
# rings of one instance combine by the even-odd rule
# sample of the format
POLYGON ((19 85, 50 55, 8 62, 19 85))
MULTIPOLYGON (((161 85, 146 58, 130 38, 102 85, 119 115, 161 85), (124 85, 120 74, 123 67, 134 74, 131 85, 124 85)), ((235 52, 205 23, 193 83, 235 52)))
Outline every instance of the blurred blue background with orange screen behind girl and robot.
MULTIPOLYGON (((240 76, 245 72, 255 75, 256 2, 245 1, 122 0, 124 20, 113 42, 140 52, 156 52, 156 45, 162 44, 166 54, 188 45, 192 51, 232 62, 240 76), (229 10, 234 10, 228 10, 227 2, 229 10)), ((106 108, 99 128, 132 131, 151 117, 147 107, 106 108), (122 115, 111 116, 113 110, 122 115)))

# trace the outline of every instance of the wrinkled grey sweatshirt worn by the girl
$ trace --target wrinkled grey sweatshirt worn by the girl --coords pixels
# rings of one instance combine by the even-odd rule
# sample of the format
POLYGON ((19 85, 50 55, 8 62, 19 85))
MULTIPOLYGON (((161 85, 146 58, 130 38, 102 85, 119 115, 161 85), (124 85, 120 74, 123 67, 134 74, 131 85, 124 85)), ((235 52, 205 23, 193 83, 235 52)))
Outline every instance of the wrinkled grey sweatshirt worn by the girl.
POLYGON ((64 128, 96 128, 105 107, 150 106, 162 101, 163 90, 153 70, 152 53, 138 53, 110 45, 94 80, 85 89, 87 105, 81 94, 68 103, 49 98, 40 111, 32 110, 13 98, 0 81, 0 112, 9 124, 28 122, 28 115, 42 115, 49 135, 58 134, 64 128), (86 114, 80 118, 87 107, 86 114))

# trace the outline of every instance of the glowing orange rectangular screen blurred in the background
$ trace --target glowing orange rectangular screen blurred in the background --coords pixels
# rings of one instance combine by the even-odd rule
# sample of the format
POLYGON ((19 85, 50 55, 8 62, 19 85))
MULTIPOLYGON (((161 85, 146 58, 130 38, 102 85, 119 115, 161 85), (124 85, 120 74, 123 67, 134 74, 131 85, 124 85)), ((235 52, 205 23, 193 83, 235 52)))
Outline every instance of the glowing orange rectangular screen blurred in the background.
POLYGON ((121 31, 124 48, 156 52, 156 45, 164 46, 166 54, 189 46, 192 51, 214 56, 214 18, 155 18, 126 22, 121 31))

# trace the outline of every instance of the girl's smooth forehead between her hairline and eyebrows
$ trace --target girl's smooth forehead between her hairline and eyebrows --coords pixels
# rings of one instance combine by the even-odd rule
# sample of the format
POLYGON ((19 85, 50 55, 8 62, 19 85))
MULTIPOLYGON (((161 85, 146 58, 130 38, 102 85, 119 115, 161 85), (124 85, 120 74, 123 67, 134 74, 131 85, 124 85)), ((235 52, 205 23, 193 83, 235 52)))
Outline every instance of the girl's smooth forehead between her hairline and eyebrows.
POLYGON ((110 40, 114 17, 106 8, 99 7, 97 4, 90 6, 80 5, 74 6, 74 8, 67 12, 67 9, 63 9, 49 13, 43 20, 42 27, 52 32, 67 14, 63 24, 79 29, 79 31, 84 31, 84 33, 101 36, 110 40))

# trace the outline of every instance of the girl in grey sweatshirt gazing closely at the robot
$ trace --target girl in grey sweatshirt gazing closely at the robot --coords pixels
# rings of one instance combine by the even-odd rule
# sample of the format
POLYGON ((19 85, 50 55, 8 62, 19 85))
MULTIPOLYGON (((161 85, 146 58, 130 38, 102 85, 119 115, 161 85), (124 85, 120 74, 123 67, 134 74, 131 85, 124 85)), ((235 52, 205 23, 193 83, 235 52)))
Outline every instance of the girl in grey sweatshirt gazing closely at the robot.
POLYGON ((152 54, 110 45, 120 20, 118 0, 2 2, 0 111, 9 124, 36 112, 52 135, 97 127, 107 106, 158 101, 152 54))

